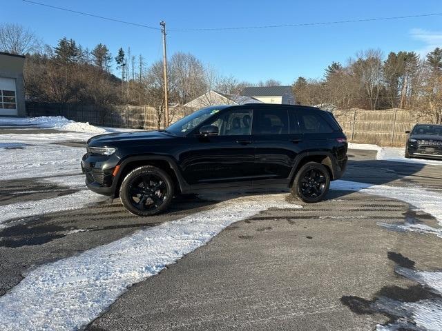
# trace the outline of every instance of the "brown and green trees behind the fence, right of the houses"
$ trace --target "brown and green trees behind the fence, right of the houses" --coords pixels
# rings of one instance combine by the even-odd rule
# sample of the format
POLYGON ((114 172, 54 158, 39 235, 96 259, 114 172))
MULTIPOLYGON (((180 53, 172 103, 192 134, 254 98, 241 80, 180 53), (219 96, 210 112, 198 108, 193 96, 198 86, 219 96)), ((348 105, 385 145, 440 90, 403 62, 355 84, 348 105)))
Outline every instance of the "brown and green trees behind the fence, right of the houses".
POLYGON ((442 49, 424 58, 415 52, 380 50, 356 54, 343 66, 332 62, 323 79, 298 77, 293 84, 298 103, 326 108, 422 112, 442 123, 442 49))

